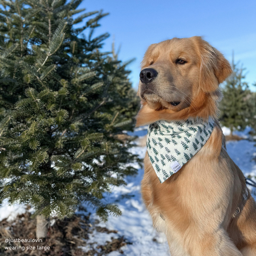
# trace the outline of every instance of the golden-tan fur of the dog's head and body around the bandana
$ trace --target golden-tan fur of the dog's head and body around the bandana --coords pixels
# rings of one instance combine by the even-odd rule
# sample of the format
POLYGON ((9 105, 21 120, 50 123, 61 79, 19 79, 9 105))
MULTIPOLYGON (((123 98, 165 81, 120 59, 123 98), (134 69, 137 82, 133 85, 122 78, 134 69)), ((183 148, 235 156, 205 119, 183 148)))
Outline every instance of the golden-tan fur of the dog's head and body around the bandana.
POLYGON ((215 118, 207 143, 164 183, 146 153, 142 196, 154 227, 166 234, 172 256, 256 256, 256 203, 250 192, 242 201, 245 178, 222 147, 225 139, 217 121, 218 85, 232 72, 228 61, 201 37, 173 38, 149 46, 145 68, 158 76, 147 86, 139 83, 137 126, 215 118), (241 211, 233 217, 237 207, 241 211))

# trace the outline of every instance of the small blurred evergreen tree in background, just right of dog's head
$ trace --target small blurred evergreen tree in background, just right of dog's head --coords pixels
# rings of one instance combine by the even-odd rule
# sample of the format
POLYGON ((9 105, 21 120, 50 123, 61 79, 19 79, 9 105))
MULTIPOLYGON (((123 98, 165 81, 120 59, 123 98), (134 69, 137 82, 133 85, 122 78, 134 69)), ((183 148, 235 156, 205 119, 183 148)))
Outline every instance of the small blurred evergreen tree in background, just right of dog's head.
POLYGON ((230 135, 234 129, 243 130, 248 124, 250 113, 250 90, 244 81, 244 68, 238 68, 238 63, 232 59, 233 74, 226 80, 223 88, 223 99, 220 102, 220 123, 230 128, 230 135))

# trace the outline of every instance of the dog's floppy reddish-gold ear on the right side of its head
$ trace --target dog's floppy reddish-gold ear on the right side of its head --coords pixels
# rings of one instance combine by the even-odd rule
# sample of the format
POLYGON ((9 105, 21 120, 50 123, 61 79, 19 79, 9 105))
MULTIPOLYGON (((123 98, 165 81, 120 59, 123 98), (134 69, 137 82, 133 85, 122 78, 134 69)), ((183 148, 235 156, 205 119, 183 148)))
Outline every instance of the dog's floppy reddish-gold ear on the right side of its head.
POLYGON ((204 92, 216 91, 219 84, 232 73, 231 66, 222 53, 201 37, 194 37, 194 39, 201 57, 200 86, 204 92))

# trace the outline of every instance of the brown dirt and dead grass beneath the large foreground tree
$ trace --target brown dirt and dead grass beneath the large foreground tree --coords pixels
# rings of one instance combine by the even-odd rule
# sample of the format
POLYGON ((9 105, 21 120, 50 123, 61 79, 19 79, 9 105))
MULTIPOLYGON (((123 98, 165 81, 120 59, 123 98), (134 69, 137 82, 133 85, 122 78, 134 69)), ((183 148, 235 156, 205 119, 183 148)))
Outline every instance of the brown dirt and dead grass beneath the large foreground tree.
MULTIPOLYGON (((91 222, 90 215, 74 215, 64 220, 52 220, 48 225, 47 238, 42 242, 6 242, 6 239, 36 239, 36 219, 26 212, 19 215, 13 223, 6 219, 0 222, 0 255, 7 256, 102 256, 112 251, 123 253, 121 247, 131 244, 117 230, 108 230, 97 226, 98 221, 91 222), (54 222, 55 221, 55 222, 54 222), (54 223, 54 224, 53 224, 54 223), (113 233, 115 238, 104 244, 87 243, 89 234, 93 232, 113 233), (6 250, 5 247, 14 247, 6 250), (35 246, 35 249, 31 248, 35 246), (39 246, 39 247, 37 247, 39 246), (81 247, 86 246, 86 252, 81 247), (16 247, 16 248, 15 248, 16 247), (47 249, 47 247, 49 249, 47 249), (39 248, 39 249, 38 249, 39 248)), ((97 235, 97 234, 96 234, 97 235)))

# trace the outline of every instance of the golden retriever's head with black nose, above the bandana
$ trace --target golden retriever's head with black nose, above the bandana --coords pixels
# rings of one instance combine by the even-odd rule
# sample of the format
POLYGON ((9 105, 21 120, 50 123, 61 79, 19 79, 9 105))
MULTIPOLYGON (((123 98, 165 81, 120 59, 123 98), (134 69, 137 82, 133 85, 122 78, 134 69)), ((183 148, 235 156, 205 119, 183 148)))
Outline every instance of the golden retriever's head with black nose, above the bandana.
POLYGON ((142 61, 138 95, 143 107, 137 126, 160 119, 215 117, 219 84, 231 72, 223 55, 201 37, 152 44, 142 61))

